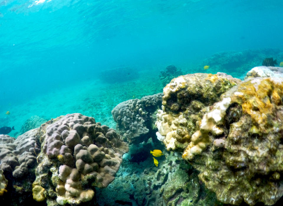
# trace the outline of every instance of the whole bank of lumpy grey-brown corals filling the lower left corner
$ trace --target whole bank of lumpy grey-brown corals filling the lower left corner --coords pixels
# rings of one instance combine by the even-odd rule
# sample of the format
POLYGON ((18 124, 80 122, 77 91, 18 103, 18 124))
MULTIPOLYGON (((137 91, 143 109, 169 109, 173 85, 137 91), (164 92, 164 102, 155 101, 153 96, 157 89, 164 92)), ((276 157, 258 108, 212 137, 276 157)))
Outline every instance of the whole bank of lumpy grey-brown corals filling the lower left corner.
POLYGON ((96 204, 129 150, 114 129, 79 113, 20 135, 0 135, 0 201, 10 205, 96 204))

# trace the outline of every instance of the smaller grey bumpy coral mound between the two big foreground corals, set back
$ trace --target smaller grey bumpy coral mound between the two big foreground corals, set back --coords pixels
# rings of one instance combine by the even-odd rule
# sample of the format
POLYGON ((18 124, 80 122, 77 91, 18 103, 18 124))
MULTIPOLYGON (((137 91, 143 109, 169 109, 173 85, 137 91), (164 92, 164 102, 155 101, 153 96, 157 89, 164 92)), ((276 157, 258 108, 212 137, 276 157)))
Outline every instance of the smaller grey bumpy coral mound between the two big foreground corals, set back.
POLYGON ((117 132, 129 143, 147 141, 154 135, 155 113, 161 108, 162 95, 163 93, 158 93, 119 103, 111 112, 117 122, 117 132))

